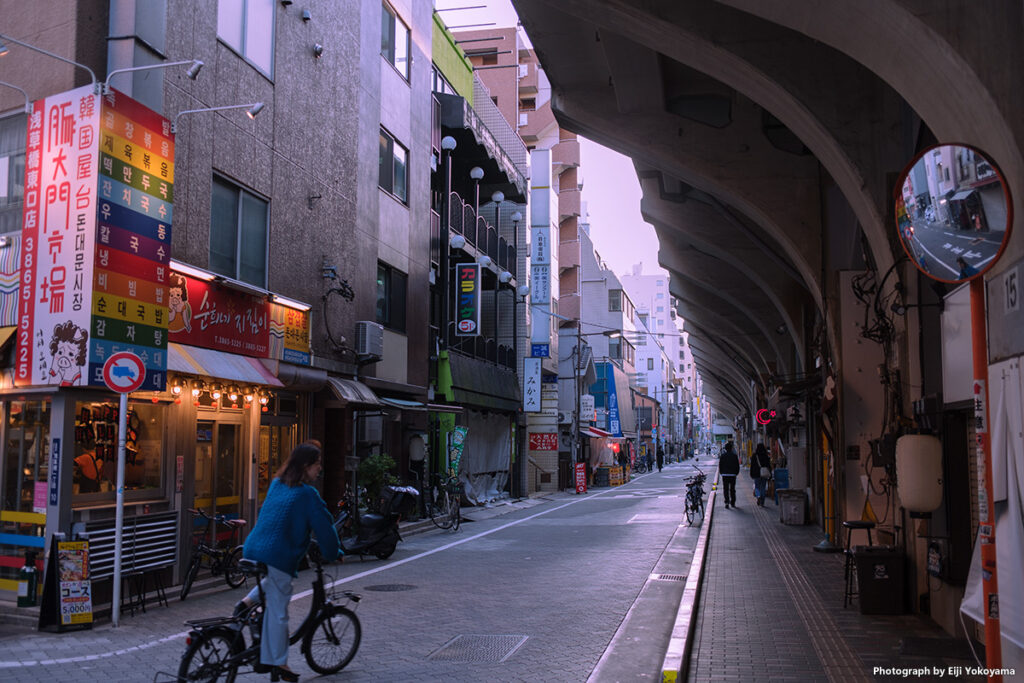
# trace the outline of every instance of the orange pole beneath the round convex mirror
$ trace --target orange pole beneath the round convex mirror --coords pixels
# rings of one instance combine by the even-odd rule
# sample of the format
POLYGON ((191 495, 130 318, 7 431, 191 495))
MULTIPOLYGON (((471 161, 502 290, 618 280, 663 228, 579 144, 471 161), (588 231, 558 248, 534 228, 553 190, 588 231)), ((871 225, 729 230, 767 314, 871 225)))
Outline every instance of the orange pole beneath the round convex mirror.
MULTIPOLYGON (((971 281, 971 347, 974 356, 974 411, 977 454, 984 466, 979 481, 978 537, 981 543, 982 595, 985 612, 985 665, 1000 669, 1002 661, 999 635, 999 591, 995 571, 995 505, 992 499, 992 443, 988 410, 988 344, 985 331, 985 279, 971 281)), ((1001 683, 1001 676, 990 681, 1001 683)))

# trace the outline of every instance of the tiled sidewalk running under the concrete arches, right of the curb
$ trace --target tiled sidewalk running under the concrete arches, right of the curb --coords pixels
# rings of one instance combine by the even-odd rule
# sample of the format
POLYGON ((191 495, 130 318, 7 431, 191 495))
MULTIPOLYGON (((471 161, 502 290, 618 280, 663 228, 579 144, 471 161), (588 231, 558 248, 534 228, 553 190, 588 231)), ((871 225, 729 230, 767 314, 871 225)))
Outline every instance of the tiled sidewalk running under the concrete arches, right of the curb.
MULTIPOLYGON (((930 620, 861 614, 857 598, 844 608, 843 553, 815 552, 818 527, 782 524, 773 501, 757 506, 745 477, 736 488, 735 509, 725 509, 720 490, 711 496, 687 680, 935 680, 939 670, 946 679, 985 680, 966 675, 978 666, 966 641, 930 620), (956 667, 964 668, 959 676, 950 669, 956 667)), ((693 597, 684 596, 681 613, 687 600, 693 597)), ((978 656, 983 667, 984 653, 978 656)))

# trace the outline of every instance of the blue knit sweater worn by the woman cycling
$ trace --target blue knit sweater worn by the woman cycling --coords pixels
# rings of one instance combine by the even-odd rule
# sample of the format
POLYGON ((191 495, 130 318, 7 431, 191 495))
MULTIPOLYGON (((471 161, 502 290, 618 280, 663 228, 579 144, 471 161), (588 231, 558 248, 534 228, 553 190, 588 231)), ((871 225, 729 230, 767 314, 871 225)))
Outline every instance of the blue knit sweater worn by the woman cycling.
POLYGON ((316 533, 325 560, 338 557, 338 532, 333 521, 315 488, 305 483, 289 486, 274 477, 242 556, 298 577, 310 530, 316 533))

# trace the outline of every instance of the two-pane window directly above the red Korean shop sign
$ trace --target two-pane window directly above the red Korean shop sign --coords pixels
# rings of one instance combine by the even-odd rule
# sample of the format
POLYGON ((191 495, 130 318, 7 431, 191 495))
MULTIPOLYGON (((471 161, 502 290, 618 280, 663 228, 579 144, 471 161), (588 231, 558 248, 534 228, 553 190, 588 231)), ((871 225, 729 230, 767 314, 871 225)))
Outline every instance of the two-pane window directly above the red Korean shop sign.
POLYGON ((213 176, 210 269, 266 287, 269 204, 226 178, 213 176))

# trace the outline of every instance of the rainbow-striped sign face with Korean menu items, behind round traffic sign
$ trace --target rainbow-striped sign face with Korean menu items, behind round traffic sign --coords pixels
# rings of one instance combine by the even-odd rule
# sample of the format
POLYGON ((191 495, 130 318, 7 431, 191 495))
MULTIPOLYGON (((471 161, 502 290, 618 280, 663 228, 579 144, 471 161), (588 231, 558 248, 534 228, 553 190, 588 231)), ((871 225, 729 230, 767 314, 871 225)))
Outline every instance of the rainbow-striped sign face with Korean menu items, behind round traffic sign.
POLYGON ((163 390, 170 311, 174 137, 171 122, 115 90, 102 98, 89 382, 128 351, 142 389, 163 390))

